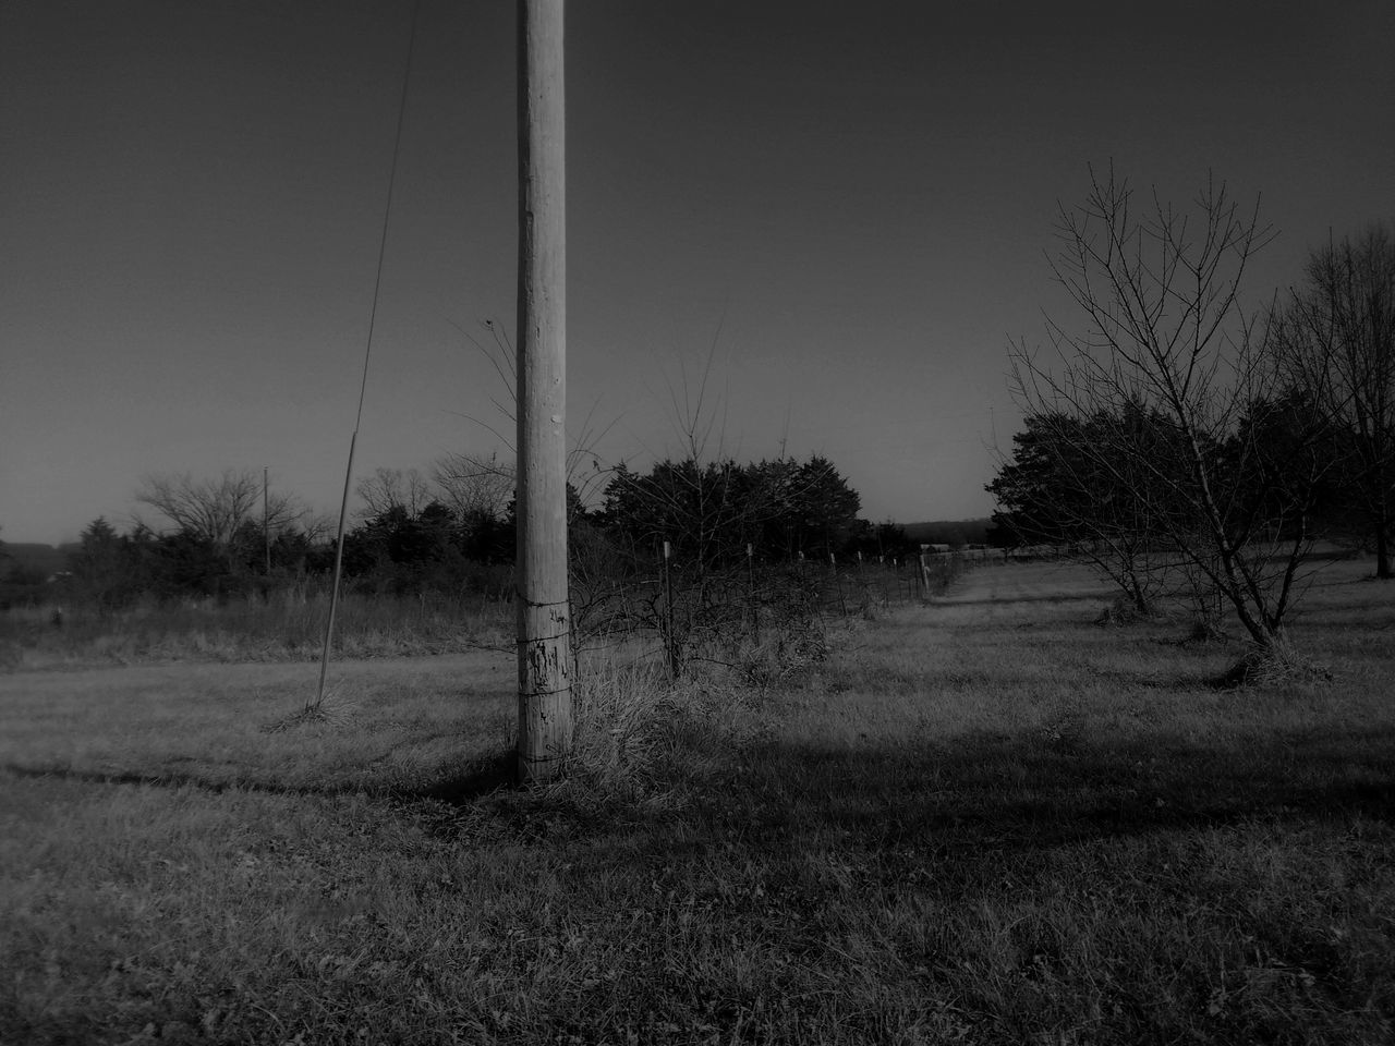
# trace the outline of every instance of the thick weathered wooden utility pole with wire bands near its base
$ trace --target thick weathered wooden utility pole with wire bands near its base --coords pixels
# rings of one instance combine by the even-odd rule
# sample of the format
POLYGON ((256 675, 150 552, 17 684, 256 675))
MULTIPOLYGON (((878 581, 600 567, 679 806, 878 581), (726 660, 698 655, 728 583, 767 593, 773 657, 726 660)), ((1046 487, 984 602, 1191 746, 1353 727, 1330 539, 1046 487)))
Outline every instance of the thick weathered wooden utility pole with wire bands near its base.
POLYGON ((566 591, 566 195, 562 0, 518 0, 519 784, 572 746, 566 591))

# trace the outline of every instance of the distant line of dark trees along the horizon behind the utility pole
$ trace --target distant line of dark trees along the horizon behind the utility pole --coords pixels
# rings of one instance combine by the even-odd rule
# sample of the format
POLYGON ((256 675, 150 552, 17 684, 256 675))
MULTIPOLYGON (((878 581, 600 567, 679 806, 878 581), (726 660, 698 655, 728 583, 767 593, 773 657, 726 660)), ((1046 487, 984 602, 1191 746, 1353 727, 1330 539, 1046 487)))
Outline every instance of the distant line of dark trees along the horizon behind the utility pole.
MULTIPOLYGON (((512 476, 494 459, 452 457, 431 476, 379 469, 357 487, 343 576, 365 594, 512 597, 512 476)), ((0 545, 0 607, 57 602, 119 609, 137 601, 246 597, 328 583, 335 536, 250 471, 146 478, 137 499, 172 526, 120 531, 96 519, 74 545, 0 545)), ((738 463, 665 460, 605 476, 591 505, 569 488, 573 568, 651 569, 667 543, 689 575, 799 559, 914 555, 921 543, 982 544, 986 520, 872 523, 826 457, 738 463)))

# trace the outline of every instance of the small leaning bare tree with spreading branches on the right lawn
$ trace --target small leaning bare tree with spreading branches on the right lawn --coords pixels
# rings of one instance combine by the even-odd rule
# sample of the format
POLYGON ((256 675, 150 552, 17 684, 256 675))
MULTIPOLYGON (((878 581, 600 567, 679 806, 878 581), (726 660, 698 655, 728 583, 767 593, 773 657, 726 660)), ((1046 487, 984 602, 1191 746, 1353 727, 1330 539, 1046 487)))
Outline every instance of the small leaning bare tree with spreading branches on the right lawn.
POLYGON ((1242 208, 1208 179, 1193 208, 1154 192, 1137 216, 1127 183, 1091 170, 1057 237, 1053 272, 1087 322, 1081 333, 1048 321, 1053 358, 1013 347, 1024 413, 1098 421, 1055 437, 1140 506, 1265 661, 1288 662, 1283 621, 1328 466, 1240 301, 1250 258, 1272 238, 1258 204, 1242 208), (1155 423, 1130 424, 1136 411, 1155 423))

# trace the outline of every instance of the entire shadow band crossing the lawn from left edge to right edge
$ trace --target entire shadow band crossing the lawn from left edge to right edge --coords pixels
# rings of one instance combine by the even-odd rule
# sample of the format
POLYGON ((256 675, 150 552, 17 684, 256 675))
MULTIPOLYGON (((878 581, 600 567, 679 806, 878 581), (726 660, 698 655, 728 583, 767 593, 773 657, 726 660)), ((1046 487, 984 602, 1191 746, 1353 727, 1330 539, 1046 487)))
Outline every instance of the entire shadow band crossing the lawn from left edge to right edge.
MULTIPOLYGON (((617 828, 682 826, 689 838, 773 841, 791 834, 852 837, 869 848, 985 847, 1031 851, 1158 831, 1256 820, 1395 824, 1395 729, 1251 738, 1235 746, 1122 738, 1089 743, 1074 728, 1030 736, 981 735, 953 745, 928 741, 875 746, 767 742, 706 753, 670 767, 650 788, 682 791, 682 803, 635 795, 513 792, 512 753, 480 757, 463 771, 405 785, 371 781, 293 785, 197 773, 102 773, 0 766, 18 778, 102 785, 250 791, 292 796, 363 795, 403 803, 434 831, 458 831, 442 808, 498 821, 536 840, 530 817, 569 838, 617 828), (492 802, 480 808, 480 801, 492 802), (480 808, 480 809, 476 809, 480 808)), ((1084 725, 1080 727, 1084 729, 1084 725)), ((664 831, 667 835, 668 833, 664 831)))

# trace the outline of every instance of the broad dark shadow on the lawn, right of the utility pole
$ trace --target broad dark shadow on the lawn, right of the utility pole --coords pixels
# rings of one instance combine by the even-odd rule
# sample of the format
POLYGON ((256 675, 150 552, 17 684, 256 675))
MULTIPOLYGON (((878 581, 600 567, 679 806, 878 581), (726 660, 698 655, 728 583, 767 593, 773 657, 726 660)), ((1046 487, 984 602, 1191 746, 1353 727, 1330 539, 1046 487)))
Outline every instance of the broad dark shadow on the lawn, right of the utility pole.
POLYGON ((1250 820, 1395 823, 1395 732, 1239 749, 979 738, 918 753, 787 749, 762 787, 781 820, 873 837, 1049 848, 1250 820), (799 796, 823 794, 810 805, 799 796))

